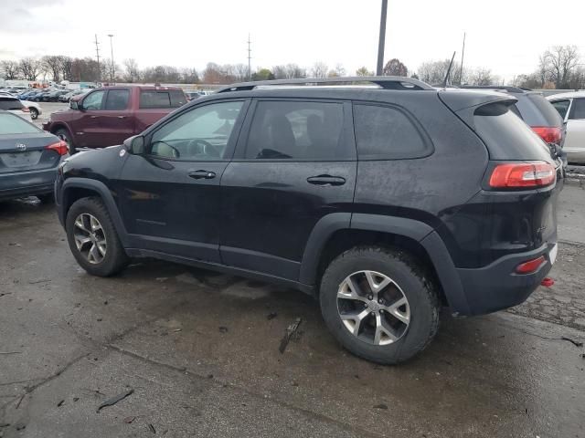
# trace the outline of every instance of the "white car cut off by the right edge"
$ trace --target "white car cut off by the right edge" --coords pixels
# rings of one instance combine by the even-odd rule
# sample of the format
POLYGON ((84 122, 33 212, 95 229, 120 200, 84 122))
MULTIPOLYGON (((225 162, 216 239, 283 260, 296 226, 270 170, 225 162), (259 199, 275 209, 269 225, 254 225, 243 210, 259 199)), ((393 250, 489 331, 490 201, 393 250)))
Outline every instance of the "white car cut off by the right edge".
POLYGON ((547 99, 565 123, 563 150, 568 161, 585 164, 585 91, 554 94, 547 99))

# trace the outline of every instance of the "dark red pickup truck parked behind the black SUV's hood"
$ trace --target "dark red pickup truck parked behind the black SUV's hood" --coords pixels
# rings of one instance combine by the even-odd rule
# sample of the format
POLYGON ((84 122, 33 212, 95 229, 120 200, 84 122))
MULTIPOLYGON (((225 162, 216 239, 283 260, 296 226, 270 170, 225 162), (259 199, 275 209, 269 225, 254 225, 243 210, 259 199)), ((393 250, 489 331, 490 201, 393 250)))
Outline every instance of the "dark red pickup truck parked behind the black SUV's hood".
POLYGON ((67 141, 71 154, 77 148, 113 146, 142 132, 186 101, 183 90, 172 87, 94 89, 72 98, 69 110, 52 113, 43 130, 67 141))

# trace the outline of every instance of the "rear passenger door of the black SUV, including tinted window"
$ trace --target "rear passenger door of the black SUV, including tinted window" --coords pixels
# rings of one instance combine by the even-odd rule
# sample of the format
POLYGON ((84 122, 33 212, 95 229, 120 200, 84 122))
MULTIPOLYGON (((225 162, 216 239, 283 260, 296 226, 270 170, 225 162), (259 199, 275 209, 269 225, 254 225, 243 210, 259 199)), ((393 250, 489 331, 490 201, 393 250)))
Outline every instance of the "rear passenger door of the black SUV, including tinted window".
POLYGON ((327 214, 351 211, 356 184, 351 105, 259 99, 253 107, 221 180, 221 259, 298 280, 315 224, 327 214))

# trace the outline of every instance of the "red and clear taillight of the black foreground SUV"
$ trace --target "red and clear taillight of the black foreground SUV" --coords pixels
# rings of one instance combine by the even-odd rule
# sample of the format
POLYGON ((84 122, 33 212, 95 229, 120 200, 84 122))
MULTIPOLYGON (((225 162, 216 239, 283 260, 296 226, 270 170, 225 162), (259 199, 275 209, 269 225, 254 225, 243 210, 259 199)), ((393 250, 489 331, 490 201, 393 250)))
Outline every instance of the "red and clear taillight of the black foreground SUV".
POLYGON ((548 162, 498 164, 490 177, 494 188, 543 187, 557 179, 555 168, 548 162))

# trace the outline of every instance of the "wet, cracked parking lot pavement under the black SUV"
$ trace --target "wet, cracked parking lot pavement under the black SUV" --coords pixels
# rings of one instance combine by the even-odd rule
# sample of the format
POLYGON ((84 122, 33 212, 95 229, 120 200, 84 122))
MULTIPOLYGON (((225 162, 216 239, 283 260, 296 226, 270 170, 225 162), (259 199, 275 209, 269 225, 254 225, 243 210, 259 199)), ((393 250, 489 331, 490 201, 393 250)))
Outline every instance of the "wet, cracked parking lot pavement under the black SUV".
MULTIPOLYGON (((559 217, 583 217, 577 190, 559 217)), ((51 206, 0 204, 0 236, 0 436, 585 437, 584 351, 563 339, 585 340, 583 245, 526 304, 445 314, 420 357, 382 367, 299 292, 157 261, 88 276, 51 206)))

